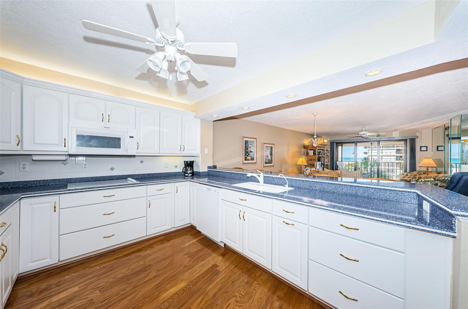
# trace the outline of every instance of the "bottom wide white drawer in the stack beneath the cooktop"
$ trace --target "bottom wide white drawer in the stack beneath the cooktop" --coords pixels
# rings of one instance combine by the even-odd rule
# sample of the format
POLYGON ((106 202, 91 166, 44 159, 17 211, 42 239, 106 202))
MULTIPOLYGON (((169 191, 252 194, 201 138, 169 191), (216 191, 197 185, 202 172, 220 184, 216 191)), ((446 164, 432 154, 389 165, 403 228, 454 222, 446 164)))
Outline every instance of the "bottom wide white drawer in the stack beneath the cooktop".
POLYGON ((146 218, 60 236, 60 260, 70 259, 146 235, 146 218))

